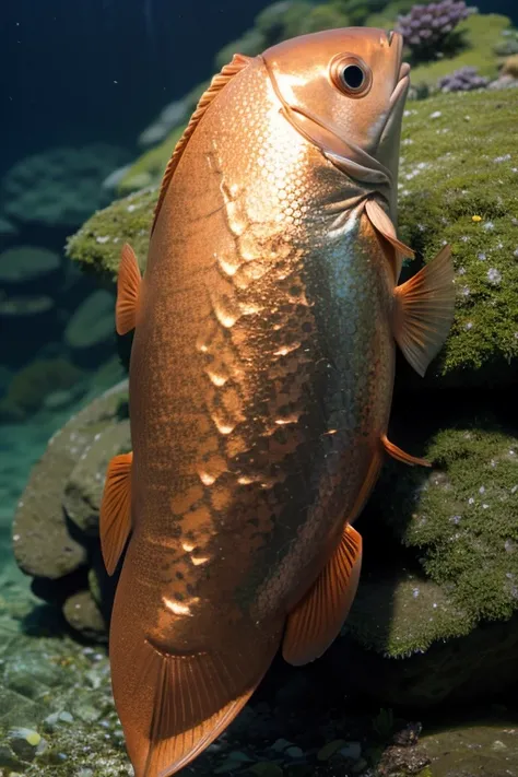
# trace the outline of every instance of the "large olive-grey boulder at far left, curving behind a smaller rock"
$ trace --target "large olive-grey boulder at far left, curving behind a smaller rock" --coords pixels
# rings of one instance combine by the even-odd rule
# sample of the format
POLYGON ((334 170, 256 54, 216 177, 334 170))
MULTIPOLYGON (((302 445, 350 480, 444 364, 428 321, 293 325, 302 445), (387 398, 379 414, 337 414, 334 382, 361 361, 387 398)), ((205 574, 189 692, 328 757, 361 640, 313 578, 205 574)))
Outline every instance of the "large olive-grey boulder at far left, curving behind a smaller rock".
POLYGON ((127 384, 122 382, 94 400, 52 437, 33 469, 13 523, 14 556, 25 574, 57 580, 87 563, 86 538, 72 535, 63 510, 64 488, 81 457, 117 417, 126 398, 127 384))

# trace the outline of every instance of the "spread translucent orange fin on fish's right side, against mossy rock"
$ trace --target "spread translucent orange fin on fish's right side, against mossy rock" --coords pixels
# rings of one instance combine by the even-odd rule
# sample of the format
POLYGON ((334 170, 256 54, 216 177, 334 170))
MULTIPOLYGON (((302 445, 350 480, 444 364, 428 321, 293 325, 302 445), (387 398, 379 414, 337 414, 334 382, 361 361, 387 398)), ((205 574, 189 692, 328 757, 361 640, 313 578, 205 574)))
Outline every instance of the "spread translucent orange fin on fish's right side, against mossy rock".
POLYGON ((455 310, 449 246, 395 290, 393 333, 408 362, 423 376, 448 337, 455 310))

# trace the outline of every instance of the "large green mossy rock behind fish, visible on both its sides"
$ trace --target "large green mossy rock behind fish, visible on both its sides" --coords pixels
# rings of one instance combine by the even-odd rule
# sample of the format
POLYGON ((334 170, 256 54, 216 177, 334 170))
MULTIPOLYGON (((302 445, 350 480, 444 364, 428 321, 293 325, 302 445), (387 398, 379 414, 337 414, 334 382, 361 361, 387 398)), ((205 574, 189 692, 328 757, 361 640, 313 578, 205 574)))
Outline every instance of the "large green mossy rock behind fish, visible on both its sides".
MULTIPOLYGON (((516 380, 517 110, 513 91, 505 98, 491 92, 437 95, 409 104, 405 111, 400 235, 426 260, 443 242, 450 243, 458 286, 451 334, 425 380, 403 367, 404 381, 420 390, 516 380), (459 120, 466 132, 458 130, 459 120)), ((85 269, 116 278, 128 240, 144 270, 156 198, 155 189, 144 189, 96 213, 69 240, 68 255, 85 269)))

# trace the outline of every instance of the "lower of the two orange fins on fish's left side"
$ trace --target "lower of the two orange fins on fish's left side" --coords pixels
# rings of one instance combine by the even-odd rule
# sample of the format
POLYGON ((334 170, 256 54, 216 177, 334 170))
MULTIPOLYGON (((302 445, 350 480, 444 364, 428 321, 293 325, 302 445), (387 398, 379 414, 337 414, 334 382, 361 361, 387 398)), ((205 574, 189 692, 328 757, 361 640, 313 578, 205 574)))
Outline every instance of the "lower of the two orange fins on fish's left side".
POLYGON ((133 454, 114 456, 108 464, 99 511, 101 550, 113 575, 131 529, 130 474, 133 454))

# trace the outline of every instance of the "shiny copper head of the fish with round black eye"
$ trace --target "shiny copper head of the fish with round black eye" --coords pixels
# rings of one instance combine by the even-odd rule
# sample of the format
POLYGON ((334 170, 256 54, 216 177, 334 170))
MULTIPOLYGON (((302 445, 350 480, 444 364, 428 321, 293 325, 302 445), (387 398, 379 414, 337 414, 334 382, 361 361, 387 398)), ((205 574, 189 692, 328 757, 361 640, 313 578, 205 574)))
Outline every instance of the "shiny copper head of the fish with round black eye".
POLYGON ((345 27, 267 49, 263 61, 289 121, 352 178, 393 186, 410 66, 399 33, 345 27))

